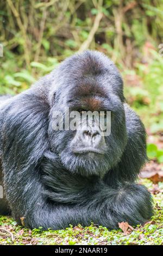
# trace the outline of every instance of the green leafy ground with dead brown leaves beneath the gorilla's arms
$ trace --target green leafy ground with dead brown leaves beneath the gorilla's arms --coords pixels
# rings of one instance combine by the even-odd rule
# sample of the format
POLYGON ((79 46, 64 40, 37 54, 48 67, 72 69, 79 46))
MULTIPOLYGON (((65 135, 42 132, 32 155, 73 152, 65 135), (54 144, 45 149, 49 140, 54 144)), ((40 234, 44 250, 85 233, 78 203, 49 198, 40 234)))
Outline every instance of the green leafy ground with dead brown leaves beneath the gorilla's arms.
MULTIPOLYGON (((151 181, 143 179, 148 189, 151 181)), ((121 229, 108 230, 106 227, 70 227, 65 230, 29 230, 17 226, 11 217, 0 217, 0 245, 163 245, 163 182, 159 182, 160 192, 153 194, 154 216, 143 226, 137 226, 124 235, 121 229), (14 237, 12 237, 12 235, 14 237)))

